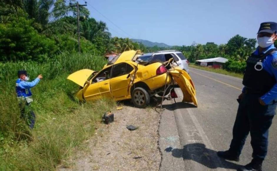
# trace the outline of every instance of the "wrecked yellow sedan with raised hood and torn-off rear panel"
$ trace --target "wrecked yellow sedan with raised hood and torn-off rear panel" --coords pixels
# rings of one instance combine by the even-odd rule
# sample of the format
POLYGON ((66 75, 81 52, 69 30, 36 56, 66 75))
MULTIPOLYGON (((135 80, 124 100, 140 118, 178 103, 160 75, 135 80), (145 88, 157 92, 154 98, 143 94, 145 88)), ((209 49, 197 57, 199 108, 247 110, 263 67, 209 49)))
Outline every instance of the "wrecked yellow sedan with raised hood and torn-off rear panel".
POLYGON ((167 66, 157 61, 140 63, 136 61, 140 55, 140 51, 126 51, 99 72, 83 69, 67 79, 81 86, 76 93, 81 101, 102 97, 115 101, 132 99, 136 107, 145 108, 151 96, 167 95, 169 91, 163 93, 165 87, 178 84, 183 92, 183 102, 193 102, 197 106, 195 88, 188 73, 179 67, 170 67, 169 63, 167 66))

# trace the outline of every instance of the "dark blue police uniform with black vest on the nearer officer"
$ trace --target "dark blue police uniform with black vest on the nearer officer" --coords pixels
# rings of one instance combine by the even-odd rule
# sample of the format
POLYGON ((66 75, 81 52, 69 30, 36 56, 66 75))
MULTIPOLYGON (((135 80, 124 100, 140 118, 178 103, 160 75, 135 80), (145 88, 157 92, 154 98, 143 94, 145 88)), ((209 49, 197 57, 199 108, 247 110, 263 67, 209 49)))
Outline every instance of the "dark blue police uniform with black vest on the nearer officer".
POLYGON ((233 139, 230 144, 230 151, 237 156, 240 155, 250 132, 253 158, 263 160, 266 157, 268 129, 272 124, 277 105, 277 65, 274 64, 275 60, 277 60, 277 50, 274 45, 271 45, 261 54, 257 48, 246 61, 247 67, 243 78, 243 85, 245 85, 243 93, 245 94, 238 106, 233 127, 233 139), (262 57, 263 59, 261 59, 262 57), (263 69, 260 71, 255 69, 259 59, 263 65, 263 69), (259 98, 266 103, 265 106, 259 103, 259 98))

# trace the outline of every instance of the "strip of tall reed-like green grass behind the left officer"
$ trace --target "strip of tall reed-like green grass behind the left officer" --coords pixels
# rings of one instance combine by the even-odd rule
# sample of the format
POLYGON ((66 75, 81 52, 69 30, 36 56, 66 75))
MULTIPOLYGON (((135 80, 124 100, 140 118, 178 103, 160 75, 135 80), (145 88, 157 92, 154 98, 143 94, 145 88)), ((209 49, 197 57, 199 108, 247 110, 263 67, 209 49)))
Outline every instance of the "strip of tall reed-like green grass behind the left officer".
POLYGON ((13 82, 17 77, 17 71, 23 69, 27 70, 33 78, 42 74, 45 79, 53 79, 63 73, 72 73, 83 68, 101 70, 106 63, 107 61, 102 56, 63 52, 54 58, 46 58, 44 63, 32 61, 0 63, 0 81, 13 82))

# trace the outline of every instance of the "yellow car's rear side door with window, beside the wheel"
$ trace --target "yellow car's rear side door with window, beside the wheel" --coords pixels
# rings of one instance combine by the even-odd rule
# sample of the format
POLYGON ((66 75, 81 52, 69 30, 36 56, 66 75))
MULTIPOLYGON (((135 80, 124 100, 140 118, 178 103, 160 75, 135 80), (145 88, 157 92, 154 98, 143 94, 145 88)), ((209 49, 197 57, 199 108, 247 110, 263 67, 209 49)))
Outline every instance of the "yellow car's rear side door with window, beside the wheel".
POLYGON ((112 96, 116 100, 122 100, 130 95, 128 88, 131 82, 129 73, 134 70, 134 67, 127 63, 119 63, 112 68, 112 79, 110 80, 110 87, 112 96), (120 99, 119 99, 120 98, 120 99))

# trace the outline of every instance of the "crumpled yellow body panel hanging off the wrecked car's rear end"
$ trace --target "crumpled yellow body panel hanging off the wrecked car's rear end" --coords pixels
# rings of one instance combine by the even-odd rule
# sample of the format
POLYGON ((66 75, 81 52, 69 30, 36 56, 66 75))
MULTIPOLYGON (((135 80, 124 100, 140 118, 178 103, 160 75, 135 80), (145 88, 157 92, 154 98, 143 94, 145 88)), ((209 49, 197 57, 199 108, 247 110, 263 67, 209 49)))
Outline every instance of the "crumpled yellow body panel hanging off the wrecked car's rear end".
POLYGON ((170 75, 172 75, 183 92, 183 102, 193 102, 195 106, 198 106, 195 88, 188 73, 184 70, 175 69, 170 71, 170 75))

